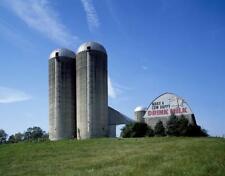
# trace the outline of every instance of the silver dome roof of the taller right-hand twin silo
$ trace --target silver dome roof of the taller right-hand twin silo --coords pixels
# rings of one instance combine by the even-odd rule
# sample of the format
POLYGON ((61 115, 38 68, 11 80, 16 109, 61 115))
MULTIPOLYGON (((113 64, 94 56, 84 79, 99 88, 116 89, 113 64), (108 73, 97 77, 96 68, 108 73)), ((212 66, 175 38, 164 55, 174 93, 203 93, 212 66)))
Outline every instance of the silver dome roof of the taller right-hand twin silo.
POLYGON ((78 48, 77 53, 80 53, 82 51, 87 51, 88 47, 90 47, 90 50, 101 51, 101 52, 106 54, 105 48, 101 44, 99 44, 97 42, 86 42, 86 43, 83 43, 78 48))

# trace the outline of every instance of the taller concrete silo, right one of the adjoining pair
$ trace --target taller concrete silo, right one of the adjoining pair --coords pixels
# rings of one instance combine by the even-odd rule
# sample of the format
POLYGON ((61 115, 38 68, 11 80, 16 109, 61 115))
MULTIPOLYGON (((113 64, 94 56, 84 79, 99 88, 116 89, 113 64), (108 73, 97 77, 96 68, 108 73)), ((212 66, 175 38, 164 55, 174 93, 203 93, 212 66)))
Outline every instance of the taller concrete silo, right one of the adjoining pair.
POLYGON ((107 53, 96 42, 82 44, 76 55, 77 138, 108 136, 107 53))

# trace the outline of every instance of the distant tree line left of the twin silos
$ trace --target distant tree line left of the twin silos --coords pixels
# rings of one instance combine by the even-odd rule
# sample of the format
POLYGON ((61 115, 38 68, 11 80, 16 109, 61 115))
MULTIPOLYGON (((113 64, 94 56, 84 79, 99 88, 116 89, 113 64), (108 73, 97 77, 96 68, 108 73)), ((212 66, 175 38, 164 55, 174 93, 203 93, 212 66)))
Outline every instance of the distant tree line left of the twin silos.
POLYGON ((8 137, 8 134, 3 129, 0 129, 0 144, 35 140, 48 140, 48 133, 43 131, 40 127, 34 126, 28 128, 24 133, 18 132, 8 137))

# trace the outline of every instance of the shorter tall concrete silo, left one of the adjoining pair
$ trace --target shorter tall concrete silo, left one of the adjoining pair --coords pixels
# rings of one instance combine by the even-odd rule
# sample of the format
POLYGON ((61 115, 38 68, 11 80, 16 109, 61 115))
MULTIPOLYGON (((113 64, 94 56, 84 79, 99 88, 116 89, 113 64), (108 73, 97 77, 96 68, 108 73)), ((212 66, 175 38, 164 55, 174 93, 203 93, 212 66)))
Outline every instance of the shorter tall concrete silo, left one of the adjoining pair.
POLYGON ((75 53, 68 49, 56 49, 49 58, 49 139, 74 138, 75 119, 75 53))

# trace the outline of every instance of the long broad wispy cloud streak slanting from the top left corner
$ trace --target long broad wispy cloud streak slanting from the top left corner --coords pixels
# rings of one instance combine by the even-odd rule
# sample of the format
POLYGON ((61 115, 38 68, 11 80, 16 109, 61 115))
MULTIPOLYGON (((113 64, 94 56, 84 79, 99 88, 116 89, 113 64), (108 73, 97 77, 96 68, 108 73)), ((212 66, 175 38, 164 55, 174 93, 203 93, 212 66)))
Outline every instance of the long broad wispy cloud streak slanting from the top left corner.
POLYGON ((72 35, 59 21, 59 15, 50 7, 48 0, 4 0, 4 6, 11 9, 29 27, 46 35, 52 41, 63 45, 77 44, 78 37, 72 35))

